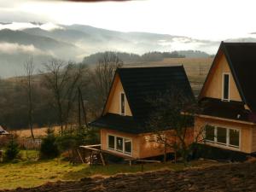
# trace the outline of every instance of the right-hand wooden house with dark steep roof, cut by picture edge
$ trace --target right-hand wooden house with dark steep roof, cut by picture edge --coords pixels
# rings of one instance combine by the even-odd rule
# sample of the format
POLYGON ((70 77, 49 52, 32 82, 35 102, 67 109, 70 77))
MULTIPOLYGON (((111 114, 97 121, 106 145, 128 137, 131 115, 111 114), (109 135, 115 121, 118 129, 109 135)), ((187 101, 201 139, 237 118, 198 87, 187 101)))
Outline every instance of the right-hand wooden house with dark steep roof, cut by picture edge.
POLYGON ((207 145, 256 152, 256 43, 219 46, 202 87, 201 113, 195 130, 204 127, 207 145))

